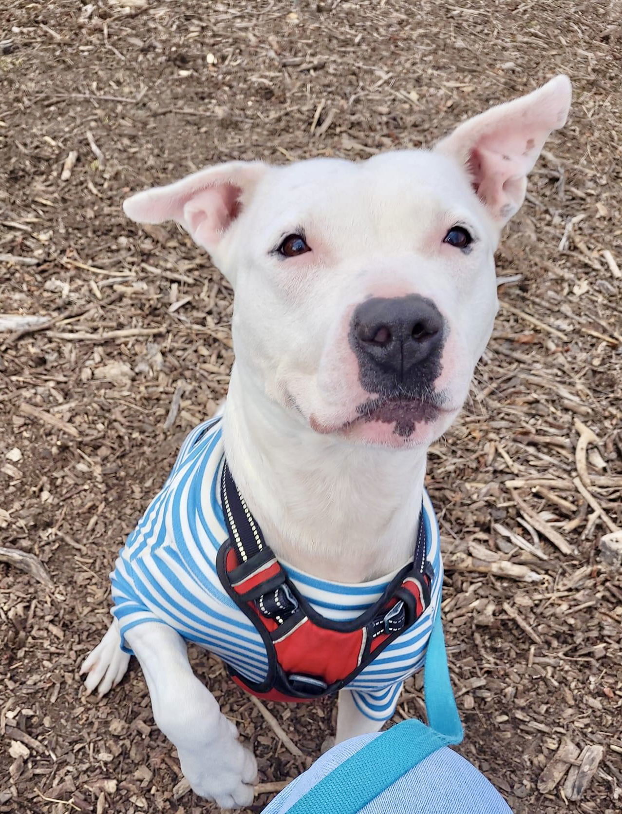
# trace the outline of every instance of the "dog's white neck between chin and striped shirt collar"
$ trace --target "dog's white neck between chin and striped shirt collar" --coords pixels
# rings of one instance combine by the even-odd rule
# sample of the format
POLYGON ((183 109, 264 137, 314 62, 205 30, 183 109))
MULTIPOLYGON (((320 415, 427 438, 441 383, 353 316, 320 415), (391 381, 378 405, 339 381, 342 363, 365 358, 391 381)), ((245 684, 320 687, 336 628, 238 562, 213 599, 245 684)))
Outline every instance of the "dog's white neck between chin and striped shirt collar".
POLYGON ((277 558, 359 583, 412 557, 426 450, 373 449, 318 435, 234 365, 224 412, 228 466, 277 558))

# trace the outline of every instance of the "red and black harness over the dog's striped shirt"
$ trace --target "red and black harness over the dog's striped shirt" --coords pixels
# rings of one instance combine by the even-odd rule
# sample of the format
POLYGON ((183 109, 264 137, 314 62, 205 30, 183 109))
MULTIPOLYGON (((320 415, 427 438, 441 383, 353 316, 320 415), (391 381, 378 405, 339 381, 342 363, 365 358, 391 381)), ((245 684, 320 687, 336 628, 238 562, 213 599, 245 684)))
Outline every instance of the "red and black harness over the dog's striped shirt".
POLYGON ((263 681, 246 681, 228 667, 233 681, 251 694, 272 701, 311 701, 336 693, 428 607, 433 572, 426 558, 423 517, 413 561, 374 606, 357 619, 335 622, 317 613, 289 580, 263 541, 226 462, 220 494, 229 539, 218 552, 218 575, 257 628, 268 653, 263 681))

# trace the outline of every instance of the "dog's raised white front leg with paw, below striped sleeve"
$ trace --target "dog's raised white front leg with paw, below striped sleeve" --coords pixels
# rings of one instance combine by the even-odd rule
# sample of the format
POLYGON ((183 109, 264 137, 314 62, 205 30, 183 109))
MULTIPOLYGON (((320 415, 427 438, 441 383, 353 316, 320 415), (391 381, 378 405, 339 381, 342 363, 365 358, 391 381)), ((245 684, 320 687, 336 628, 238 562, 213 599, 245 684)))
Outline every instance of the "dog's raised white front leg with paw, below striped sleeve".
POLYGON ((250 805, 257 764, 192 672, 185 641, 155 622, 131 628, 126 640, 145 674, 155 723, 176 746, 192 789, 222 808, 250 805))

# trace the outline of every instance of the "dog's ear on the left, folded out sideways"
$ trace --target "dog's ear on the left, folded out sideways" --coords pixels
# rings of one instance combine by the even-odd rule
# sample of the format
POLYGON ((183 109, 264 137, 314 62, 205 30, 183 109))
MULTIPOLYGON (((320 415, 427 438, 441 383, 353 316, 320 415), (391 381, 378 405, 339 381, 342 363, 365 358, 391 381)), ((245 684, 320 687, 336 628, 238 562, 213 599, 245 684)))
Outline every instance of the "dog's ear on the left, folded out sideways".
POLYGON ((213 252, 250 201, 268 170, 262 161, 206 167, 168 186, 132 195, 124 212, 137 223, 176 221, 199 246, 213 252))

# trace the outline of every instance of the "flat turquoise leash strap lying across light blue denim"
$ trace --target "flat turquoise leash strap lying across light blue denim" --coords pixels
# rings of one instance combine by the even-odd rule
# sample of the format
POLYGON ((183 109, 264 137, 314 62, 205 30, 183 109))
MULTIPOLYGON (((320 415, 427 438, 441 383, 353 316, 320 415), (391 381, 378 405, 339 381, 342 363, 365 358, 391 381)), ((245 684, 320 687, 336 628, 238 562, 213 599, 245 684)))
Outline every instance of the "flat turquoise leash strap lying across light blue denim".
POLYGON ((402 775, 443 746, 463 739, 451 689, 439 602, 424 667, 429 726, 405 720, 375 737, 307 791, 288 814, 357 814, 402 775))

